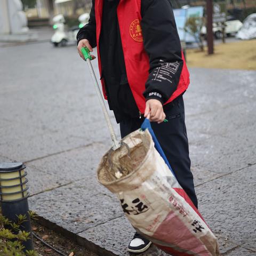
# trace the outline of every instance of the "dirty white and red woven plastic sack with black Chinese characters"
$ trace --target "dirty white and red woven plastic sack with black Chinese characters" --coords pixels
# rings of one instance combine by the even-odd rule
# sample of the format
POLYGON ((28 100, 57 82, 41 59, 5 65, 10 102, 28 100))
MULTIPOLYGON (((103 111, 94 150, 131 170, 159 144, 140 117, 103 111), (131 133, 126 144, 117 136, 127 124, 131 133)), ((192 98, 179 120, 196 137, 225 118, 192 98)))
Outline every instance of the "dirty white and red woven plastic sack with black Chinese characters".
POLYGON ((217 238, 154 147, 149 130, 127 135, 119 149, 103 156, 99 182, 117 195, 132 226, 163 251, 219 255, 217 238))

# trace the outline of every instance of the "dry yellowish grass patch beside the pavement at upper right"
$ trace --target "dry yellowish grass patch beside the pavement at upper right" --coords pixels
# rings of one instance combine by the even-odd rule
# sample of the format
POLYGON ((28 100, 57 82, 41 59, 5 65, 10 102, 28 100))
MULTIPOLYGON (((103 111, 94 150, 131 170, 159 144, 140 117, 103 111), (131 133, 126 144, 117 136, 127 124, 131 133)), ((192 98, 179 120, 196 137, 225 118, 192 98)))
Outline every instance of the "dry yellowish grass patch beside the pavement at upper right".
POLYGON ((207 55, 207 49, 204 52, 188 49, 187 64, 189 67, 256 70, 256 39, 215 45, 212 55, 207 55))

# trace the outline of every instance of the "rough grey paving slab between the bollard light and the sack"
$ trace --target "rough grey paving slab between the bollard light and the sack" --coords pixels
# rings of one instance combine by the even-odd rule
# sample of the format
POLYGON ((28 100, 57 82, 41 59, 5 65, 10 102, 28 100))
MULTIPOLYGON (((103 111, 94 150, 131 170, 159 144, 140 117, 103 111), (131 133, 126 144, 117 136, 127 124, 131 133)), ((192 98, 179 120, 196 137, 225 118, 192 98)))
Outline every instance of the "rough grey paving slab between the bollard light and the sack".
POLYGON ((78 233, 123 214, 110 192, 89 176, 70 185, 29 197, 30 209, 72 233, 78 233))

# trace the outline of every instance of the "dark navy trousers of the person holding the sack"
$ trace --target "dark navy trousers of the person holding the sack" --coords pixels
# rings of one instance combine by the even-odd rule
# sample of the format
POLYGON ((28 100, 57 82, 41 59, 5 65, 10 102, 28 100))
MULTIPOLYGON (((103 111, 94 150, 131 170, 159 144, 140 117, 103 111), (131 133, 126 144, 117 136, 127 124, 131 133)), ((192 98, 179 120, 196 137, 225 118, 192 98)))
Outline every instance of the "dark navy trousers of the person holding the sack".
MULTIPOLYGON (((151 123, 153 131, 181 187, 197 207, 193 174, 190 171, 188 138, 182 95, 164 107, 168 122, 151 123)), ((120 123, 121 137, 140 128, 144 118, 125 119, 120 123)))

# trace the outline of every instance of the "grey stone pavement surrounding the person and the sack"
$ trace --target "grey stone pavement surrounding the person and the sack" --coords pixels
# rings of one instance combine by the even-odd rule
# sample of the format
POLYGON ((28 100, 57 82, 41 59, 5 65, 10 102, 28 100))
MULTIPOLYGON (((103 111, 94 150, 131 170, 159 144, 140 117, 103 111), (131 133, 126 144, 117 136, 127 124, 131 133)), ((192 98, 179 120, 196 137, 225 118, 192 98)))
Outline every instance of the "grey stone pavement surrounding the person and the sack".
MULTIPOLYGON (((0 47, 0 55, 0 161, 26 163, 30 209, 99 255, 129 255, 133 229, 95 176, 111 141, 86 63, 74 46, 45 42, 0 47)), ((256 72, 190 72, 185 108, 199 210, 222 255, 256 255, 256 72)), ((141 255, 166 254, 153 246, 141 255)))

